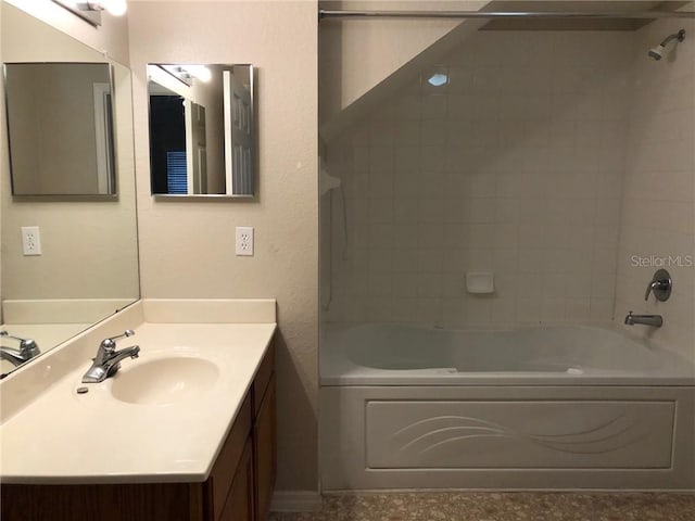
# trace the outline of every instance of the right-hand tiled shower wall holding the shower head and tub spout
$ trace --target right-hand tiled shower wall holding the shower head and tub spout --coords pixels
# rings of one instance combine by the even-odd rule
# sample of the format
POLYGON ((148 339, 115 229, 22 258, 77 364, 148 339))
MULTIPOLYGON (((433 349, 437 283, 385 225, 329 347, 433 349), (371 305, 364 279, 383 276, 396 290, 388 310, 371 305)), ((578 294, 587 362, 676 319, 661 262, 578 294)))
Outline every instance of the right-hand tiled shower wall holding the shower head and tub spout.
POLYGON ((695 40, 690 37, 694 34, 692 21, 660 21, 636 35, 616 302, 616 321, 621 322, 631 309, 662 315, 664 326, 658 330, 644 326, 629 329, 636 334, 649 334, 692 359, 695 359, 695 267, 692 265, 695 260, 695 40), (659 62, 645 59, 646 49, 680 28, 685 28, 687 36, 675 52, 659 62), (659 267, 671 274, 673 294, 667 302, 658 302, 654 296, 645 302, 645 289, 659 267))

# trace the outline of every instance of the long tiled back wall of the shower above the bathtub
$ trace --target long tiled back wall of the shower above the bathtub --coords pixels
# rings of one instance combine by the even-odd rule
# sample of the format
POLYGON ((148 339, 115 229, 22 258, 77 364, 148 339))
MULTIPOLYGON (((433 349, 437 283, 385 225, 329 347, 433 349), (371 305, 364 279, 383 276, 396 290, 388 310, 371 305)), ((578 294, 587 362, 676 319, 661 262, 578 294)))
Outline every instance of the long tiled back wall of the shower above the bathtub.
POLYGON ((610 321, 634 41, 478 31, 328 143, 324 319, 610 321))

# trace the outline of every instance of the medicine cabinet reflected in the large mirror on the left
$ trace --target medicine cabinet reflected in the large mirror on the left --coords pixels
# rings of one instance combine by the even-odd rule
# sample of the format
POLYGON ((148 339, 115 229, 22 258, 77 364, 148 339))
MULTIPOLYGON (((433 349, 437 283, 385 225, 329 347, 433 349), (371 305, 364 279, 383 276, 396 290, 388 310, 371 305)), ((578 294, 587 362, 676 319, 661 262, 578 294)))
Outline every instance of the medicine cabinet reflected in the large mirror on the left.
POLYGON ((111 66, 5 63, 14 195, 115 194, 111 66))

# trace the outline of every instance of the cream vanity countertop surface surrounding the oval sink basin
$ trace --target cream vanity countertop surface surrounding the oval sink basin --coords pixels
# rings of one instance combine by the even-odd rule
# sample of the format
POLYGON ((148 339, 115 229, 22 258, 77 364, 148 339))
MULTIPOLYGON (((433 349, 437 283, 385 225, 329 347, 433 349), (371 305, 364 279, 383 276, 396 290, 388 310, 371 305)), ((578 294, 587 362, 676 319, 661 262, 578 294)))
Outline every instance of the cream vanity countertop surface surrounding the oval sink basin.
POLYGON ((276 325, 146 320, 132 329, 136 336, 118 341, 117 348, 138 344, 140 357, 126 358, 113 378, 83 384, 81 377, 90 366, 87 358, 3 423, 3 483, 207 479, 276 325), (192 393, 166 405, 131 404, 111 394, 118 377, 136 365, 173 356, 210 360, 218 377, 202 395, 192 393), (77 394, 79 386, 89 387, 89 392, 77 394))

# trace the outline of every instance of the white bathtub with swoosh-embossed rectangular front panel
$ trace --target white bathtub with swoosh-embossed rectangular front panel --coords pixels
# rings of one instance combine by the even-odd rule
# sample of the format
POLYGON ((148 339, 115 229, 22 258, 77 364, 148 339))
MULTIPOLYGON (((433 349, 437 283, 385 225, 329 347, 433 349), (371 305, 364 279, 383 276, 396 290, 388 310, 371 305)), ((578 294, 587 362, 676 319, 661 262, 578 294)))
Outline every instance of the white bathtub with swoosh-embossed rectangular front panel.
POLYGON ((693 365, 620 330, 329 325, 320 382, 327 491, 695 486, 693 365))

